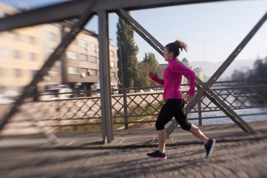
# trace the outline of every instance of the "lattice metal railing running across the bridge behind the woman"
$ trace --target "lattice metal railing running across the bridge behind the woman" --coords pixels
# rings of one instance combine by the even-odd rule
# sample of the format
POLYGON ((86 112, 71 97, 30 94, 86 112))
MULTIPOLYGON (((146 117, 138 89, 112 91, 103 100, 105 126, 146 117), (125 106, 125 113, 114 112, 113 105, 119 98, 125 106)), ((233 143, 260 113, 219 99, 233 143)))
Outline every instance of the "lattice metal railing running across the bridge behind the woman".
MULTIPOLYGON (((254 117, 267 114, 266 81, 216 82, 212 90, 240 116, 254 117)), ((181 85, 180 90, 185 93, 188 85, 181 85)), ((152 125, 165 102, 162 87, 123 88, 117 91, 119 94, 112 95, 115 129, 127 129, 129 126, 137 127, 148 123, 152 125)), ((58 94, 57 97, 67 94, 72 93, 58 94)), ((53 132, 101 130, 101 104, 97 94, 98 91, 83 91, 79 95, 88 97, 56 100, 54 97, 53 100, 25 101, 5 126, 2 134, 39 133, 47 129, 53 132)), ((2 105, 0 112, 4 114, 9 108, 10 105, 2 105)), ((217 123, 220 123, 225 117, 226 115, 204 96, 188 114, 189 120, 195 121, 197 125, 202 125, 203 121, 210 119, 216 119, 217 123)))

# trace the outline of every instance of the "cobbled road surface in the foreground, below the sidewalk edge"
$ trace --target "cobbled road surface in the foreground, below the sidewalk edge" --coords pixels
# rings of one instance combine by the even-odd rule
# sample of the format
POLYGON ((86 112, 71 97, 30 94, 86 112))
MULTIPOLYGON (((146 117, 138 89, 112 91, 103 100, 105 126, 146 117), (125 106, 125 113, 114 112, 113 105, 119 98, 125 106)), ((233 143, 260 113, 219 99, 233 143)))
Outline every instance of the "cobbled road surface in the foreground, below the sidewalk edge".
POLYGON ((267 139, 219 142, 208 159, 203 144, 122 149, 2 148, 0 177, 267 177, 267 139))

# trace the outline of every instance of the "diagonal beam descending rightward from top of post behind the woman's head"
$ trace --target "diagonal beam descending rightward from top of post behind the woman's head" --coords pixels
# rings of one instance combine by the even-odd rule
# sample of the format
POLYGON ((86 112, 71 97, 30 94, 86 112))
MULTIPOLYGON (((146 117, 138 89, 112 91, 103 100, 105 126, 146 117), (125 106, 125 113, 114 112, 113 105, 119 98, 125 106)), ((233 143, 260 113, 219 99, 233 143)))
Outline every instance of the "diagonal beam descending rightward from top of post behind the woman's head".
MULTIPOLYGON (((127 23, 129 24, 135 31, 145 40, 147 41, 155 50, 159 53, 163 54, 164 46, 160 44, 151 34, 149 34, 135 19, 133 19, 126 11, 120 9, 116 11, 116 13, 127 23)), ((181 63, 182 64, 182 63, 181 63)), ((201 88, 204 83, 196 77, 196 86, 201 88)), ((236 114, 229 106, 227 106, 214 92, 212 92, 209 88, 208 91, 213 96, 209 95, 209 93, 205 93, 207 98, 210 99, 213 103, 215 103, 222 111, 231 118, 231 120, 236 123, 242 130, 249 131, 251 133, 255 133, 255 131, 245 122, 242 118, 236 114), (215 100, 214 97, 217 99, 215 100), (224 107, 222 107, 224 106, 224 107), (236 120, 237 118, 237 120, 236 120)), ((192 109, 186 107, 187 113, 192 109)), ((178 126, 176 121, 172 122, 171 125, 166 128, 167 135, 169 136, 173 130, 178 126)))

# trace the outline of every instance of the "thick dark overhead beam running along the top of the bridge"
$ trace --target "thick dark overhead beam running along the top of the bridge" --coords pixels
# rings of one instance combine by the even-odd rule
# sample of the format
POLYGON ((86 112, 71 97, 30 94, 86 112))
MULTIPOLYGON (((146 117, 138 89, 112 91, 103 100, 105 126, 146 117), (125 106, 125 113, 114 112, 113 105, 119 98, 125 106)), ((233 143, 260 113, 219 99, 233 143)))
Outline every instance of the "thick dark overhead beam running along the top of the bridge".
MULTIPOLYGON (((97 4, 91 9, 91 13, 95 15, 99 11, 114 12, 117 9, 138 10, 219 1, 226 0, 100 0, 97 1, 97 4)), ((92 2, 94 2, 94 0, 68 1, 0 18, 0 32, 14 28, 77 18, 83 15, 83 12, 92 2)))

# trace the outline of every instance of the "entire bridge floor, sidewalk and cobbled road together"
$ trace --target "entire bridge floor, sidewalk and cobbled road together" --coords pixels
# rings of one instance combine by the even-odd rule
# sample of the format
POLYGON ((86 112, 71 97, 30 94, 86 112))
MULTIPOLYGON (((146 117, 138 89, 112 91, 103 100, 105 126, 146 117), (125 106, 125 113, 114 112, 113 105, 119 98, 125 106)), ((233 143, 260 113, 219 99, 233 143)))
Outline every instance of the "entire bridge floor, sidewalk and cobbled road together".
POLYGON ((267 121, 250 126, 259 134, 231 124, 202 126, 218 142, 208 159, 203 144, 180 129, 167 141, 167 160, 146 157, 157 149, 153 129, 115 131, 105 146, 100 132, 59 134, 57 145, 41 136, 6 137, 0 177, 267 177, 267 121))

